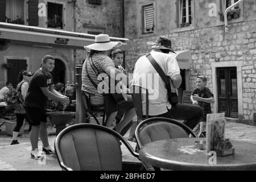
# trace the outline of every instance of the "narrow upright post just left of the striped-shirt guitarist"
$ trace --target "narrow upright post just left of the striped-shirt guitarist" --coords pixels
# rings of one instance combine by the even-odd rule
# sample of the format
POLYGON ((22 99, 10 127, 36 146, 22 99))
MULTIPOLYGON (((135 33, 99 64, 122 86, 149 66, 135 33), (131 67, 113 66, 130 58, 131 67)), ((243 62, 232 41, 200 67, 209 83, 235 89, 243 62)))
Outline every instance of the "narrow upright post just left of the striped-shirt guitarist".
POLYGON ((82 105, 82 67, 76 67, 76 123, 85 122, 85 110, 82 105))

